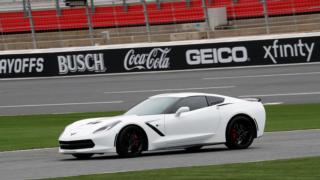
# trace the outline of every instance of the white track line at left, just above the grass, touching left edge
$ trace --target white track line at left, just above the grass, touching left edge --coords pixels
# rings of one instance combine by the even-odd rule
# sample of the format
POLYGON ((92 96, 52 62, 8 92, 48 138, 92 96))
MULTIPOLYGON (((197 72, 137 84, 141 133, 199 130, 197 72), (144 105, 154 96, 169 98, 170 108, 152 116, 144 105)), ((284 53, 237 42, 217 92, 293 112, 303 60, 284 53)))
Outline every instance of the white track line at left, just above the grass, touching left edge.
POLYGON ((108 101, 108 102, 79 102, 79 103, 59 103, 59 104, 24 104, 24 105, 0 106, 0 108, 47 107, 47 106, 72 106, 72 105, 88 105, 88 104, 120 104, 120 103, 123 103, 123 101, 108 101))

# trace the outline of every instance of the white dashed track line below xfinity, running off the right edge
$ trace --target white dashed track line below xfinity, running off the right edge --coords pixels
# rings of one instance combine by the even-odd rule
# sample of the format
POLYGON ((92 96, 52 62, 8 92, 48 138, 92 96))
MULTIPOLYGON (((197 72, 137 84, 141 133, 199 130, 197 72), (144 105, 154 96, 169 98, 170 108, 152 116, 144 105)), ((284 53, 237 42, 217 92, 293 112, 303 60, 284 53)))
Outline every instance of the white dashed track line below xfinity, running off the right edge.
POLYGON ((287 73, 287 74, 260 74, 260 75, 250 75, 250 76, 206 77, 206 78, 203 78, 203 80, 261 78, 261 77, 279 77, 279 76, 300 76, 300 75, 318 75, 318 74, 320 74, 320 72, 287 73))

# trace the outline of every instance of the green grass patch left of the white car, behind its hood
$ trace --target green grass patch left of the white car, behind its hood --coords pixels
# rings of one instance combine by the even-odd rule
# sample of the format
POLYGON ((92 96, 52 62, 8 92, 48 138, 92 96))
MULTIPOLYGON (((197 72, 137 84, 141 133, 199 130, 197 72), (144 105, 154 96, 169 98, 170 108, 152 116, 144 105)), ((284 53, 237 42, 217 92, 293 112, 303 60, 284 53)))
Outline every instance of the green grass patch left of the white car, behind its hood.
POLYGON ((66 125, 85 118, 115 116, 122 112, 94 112, 0 116, 0 151, 58 146, 66 125))

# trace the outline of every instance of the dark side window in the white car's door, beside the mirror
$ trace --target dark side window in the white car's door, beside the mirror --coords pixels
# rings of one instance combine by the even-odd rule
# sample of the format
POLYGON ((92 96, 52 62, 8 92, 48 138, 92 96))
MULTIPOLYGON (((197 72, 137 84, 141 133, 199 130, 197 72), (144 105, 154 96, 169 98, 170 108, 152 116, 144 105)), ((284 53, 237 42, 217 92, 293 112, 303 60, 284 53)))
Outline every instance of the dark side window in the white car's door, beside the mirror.
POLYGON ((180 107, 189 107, 190 111, 207 107, 208 103, 205 96, 186 97, 178 101, 169 111, 175 113, 180 107))

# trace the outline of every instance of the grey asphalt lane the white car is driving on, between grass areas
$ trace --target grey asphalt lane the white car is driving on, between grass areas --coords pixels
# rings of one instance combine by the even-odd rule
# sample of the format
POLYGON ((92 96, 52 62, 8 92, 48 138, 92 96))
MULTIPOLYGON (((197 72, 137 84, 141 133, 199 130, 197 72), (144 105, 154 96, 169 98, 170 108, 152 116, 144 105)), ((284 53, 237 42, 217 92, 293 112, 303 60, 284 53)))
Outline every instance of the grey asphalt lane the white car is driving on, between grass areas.
POLYGON ((295 157, 320 156, 320 130, 266 133, 249 149, 228 150, 211 146, 196 153, 183 150, 146 153, 142 157, 120 159, 115 154, 76 160, 58 150, 0 153, 1 179, 36 179, 105 172, 181 166, 253 162, 295 157))

